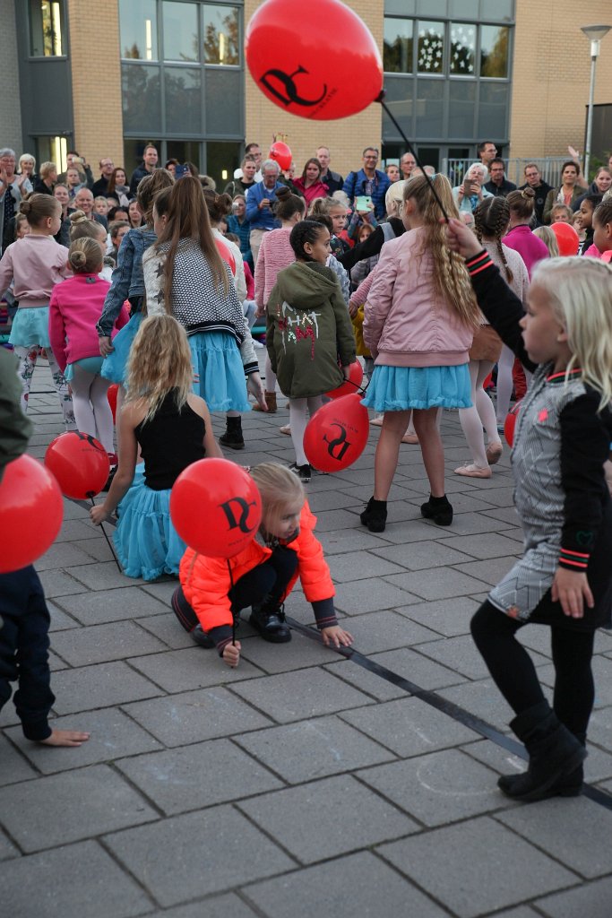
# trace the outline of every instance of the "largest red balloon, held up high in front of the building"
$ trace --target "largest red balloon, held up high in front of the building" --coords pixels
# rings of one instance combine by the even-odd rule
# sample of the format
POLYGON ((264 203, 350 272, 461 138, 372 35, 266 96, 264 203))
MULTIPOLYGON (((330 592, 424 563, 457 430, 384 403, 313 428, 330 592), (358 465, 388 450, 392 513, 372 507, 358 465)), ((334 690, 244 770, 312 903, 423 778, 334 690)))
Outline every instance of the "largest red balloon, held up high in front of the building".
POLYGON ((370 29, 339 0, 265 0, 245 38, 255 83, 300 118, 356 115, 383 88, 383 62, 370 29))

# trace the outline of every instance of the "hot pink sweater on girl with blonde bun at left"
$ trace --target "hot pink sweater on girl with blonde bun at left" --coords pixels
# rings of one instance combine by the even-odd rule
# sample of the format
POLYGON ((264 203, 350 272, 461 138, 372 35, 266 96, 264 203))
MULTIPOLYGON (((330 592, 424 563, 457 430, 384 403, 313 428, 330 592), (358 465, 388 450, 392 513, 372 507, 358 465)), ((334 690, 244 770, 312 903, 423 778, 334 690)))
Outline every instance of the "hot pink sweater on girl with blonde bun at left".
MULTIPOLYGON (((102 315, 109 288, 108 281, 102 280, 97 274, 74 274, 54 288, 49 304, 49 338, 51 350, 62 373, 67 364, 83 360, 83 357, 99 357, 100 345, 95 323, 102 315)), ((124 303, 111 338, 123 328, 128 319, 128 309, 124 303)))

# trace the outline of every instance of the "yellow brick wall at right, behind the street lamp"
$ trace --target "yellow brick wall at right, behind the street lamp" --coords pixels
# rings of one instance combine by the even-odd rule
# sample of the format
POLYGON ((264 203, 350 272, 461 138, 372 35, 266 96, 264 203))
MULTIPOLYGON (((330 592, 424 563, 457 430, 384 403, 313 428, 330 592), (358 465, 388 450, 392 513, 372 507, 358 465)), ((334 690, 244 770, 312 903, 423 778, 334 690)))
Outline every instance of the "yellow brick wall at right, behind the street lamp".
MULTIPOLYGON (((610 0, 517 0, 510 156, 584 153, 591 73, 590 42, 581 25, 612 25, 610 0)), ((609 103, 612 32, 601 42, 595 104, 609 103)), ((612 139, 610 139, 612 143, 612 139)))

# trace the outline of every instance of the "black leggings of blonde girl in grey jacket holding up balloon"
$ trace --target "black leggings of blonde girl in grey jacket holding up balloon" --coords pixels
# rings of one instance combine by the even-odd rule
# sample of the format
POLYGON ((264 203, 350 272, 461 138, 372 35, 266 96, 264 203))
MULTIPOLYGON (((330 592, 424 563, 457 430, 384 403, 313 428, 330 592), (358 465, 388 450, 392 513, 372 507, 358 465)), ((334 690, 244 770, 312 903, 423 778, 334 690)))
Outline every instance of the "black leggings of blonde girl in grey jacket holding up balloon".
MULTIPOLYGON (((516 714, 544 700, 531 657, 515 637, 524 624, 529 624, 529 621, 509 618, 488 599, 475 613, 471 623, 474 643, 483 655, 495 685, 516 714)), ((551 624, 555 669, 553 709, 568 730, 583 742, 595 700, 591 671, 594 640, 595 631, 578 631, 551 624)))

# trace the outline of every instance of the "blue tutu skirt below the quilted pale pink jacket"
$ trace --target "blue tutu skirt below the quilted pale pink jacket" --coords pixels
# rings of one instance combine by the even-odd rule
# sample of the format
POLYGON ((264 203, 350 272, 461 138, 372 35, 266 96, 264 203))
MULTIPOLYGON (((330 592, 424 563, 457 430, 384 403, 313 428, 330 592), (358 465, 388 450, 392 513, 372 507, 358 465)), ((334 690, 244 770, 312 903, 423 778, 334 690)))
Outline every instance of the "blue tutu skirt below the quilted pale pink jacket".
POLYGON ((470 371, 460 366, 384 366, 376 364, 363 399, 375 411, 471 408, 470 371))

